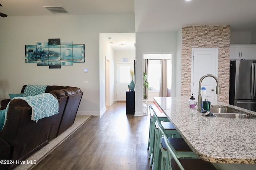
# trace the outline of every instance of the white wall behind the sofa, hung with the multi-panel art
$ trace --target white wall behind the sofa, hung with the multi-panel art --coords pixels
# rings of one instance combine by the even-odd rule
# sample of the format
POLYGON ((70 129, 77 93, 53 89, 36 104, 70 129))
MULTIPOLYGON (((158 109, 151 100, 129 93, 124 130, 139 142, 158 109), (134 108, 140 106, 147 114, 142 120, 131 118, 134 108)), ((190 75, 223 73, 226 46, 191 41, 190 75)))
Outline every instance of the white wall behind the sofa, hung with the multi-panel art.
POLYGON ((20 93, 24 84, 76 86, 84 92, 78 114, 93 115, 100 115, 105 107, 101 82, 105 57, 99 55, 99 33, 135 32, 134 15, 8 16, 0 19, 0 25, 1 98, 20 93), (25 45, 49 38, 85 44, 86 62, 60 69, 25 63, 25 45), (89 83, 84 84, 84 79, 89 83))

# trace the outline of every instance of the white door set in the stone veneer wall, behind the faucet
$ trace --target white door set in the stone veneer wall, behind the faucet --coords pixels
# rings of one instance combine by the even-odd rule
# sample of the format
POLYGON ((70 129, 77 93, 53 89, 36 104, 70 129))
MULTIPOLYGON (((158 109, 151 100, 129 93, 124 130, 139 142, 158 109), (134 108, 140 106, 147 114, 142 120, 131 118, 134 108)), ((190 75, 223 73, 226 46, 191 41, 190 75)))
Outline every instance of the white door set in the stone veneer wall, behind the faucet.
MULTIPOLYGON (((218 48, 192 48, 191 62, 191 93, 194 93, 196 101, 198 98, 199 80, 206 74, 218 77, 218 48)), ((206 94, 202 101, 208 96, 209 101, 217 101, 216 81, 212 77, 206 77, 202 81, 202 87, 206 88, 206 94)))

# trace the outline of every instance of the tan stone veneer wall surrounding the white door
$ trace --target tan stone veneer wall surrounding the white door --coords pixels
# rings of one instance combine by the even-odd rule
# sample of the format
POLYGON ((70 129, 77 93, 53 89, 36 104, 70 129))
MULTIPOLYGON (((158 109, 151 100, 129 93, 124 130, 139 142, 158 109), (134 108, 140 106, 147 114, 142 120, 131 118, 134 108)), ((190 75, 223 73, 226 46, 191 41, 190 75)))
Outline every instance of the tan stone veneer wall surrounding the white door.
POLYGON ((229 102, 229 25, 182 27, 181 96, 190 97, 192 48, 218 48, 218 80, 221 94, 218 101, 229 102))

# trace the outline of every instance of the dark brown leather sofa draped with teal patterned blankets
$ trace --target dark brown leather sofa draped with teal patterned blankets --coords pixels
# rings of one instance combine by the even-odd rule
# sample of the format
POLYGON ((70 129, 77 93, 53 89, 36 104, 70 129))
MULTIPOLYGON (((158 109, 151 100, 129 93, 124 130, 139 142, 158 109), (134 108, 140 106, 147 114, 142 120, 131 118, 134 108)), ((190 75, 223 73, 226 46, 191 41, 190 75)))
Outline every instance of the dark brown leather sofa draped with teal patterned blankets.
MULTIPOLYGON (((23 86, 21 93, 24 92, 23 86)), ((1 109, 9 104, 6 123, 0 132, 0 160, 13 161, 0 164, 0 169, 13 169, 16 160, 26 160, 29 156, 48 144, 74 123, 83 92, 69 86, 47 86, 59 102, 59 113, 36 121, 31 120, 32 109, 22 99, 1 101, 1 109), (14 164, 13 164, 14 163, 14 164)))

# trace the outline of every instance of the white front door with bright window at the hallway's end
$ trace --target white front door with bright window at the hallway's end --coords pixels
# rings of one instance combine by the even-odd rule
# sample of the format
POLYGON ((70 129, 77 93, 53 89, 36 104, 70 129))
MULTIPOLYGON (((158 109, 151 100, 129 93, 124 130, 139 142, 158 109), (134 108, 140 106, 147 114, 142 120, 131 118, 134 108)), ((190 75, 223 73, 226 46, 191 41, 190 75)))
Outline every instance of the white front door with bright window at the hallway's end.
POLYGON ((130 70, 134 70, 134 63, 117 63, 116 66, 116 100, 126 100, 126 91, 131 82, 130 70))

